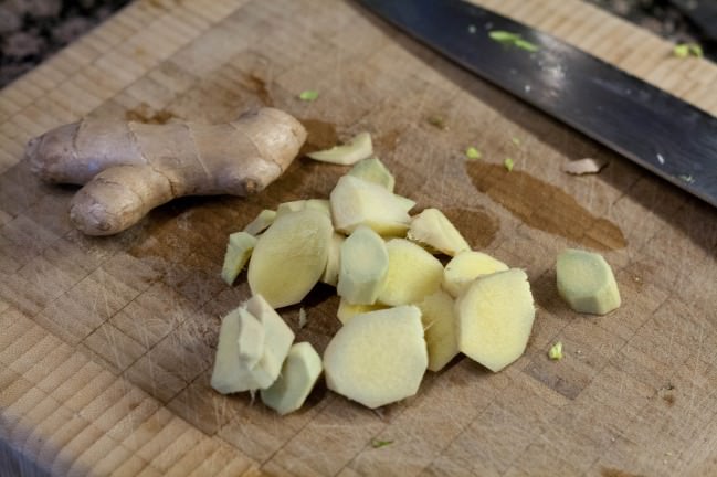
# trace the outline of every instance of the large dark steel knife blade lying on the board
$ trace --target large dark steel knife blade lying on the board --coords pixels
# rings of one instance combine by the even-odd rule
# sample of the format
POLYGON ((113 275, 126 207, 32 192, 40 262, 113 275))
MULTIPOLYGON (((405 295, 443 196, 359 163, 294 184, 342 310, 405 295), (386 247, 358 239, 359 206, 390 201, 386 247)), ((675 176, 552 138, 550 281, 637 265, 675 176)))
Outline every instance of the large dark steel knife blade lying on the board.
POLYGON ((717 206, 717 118, 708 113, 555 36, 462 0, 359 3, 472 73, 717 206), (491 32, 495 38, 495 32, 515 34, 524 47, 507 46, 491 32))

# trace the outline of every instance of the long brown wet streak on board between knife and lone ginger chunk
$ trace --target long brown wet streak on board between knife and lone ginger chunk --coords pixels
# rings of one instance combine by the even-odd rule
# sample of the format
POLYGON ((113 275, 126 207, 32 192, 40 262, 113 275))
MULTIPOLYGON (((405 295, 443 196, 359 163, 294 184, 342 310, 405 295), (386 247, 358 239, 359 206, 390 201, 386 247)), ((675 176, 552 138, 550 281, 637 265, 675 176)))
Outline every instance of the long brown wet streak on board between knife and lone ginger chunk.
POLYGON ((599 251, 624 248, 625 237, 614 223, 598 218, 561 189, 503 165, 470 162, 475 188, 506 208, 526 225, 560 235, 599 251))

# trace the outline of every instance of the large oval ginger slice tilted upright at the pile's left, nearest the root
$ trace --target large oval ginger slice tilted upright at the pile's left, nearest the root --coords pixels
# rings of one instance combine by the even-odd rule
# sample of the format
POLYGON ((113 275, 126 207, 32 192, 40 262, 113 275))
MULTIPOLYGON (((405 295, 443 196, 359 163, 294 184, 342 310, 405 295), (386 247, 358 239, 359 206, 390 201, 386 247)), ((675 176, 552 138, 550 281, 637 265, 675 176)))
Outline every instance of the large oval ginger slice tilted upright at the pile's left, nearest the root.
POLYGON ((314 209, 277 216, 249 262, 252 294, 274 308, 299 303, 324 275, 331 234, 329 218, 314 209))

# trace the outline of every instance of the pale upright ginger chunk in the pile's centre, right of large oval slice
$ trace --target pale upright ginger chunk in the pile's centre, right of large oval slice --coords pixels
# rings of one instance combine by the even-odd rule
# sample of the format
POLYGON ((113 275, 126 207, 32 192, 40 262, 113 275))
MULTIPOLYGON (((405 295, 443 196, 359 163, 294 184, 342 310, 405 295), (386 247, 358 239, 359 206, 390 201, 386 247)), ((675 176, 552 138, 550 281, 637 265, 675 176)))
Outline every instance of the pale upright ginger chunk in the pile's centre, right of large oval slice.
POLYGON ((388 269, 383 239, 361 225, 341 244, 336 293, 354 305, 373 305, 383 289, 388 269))

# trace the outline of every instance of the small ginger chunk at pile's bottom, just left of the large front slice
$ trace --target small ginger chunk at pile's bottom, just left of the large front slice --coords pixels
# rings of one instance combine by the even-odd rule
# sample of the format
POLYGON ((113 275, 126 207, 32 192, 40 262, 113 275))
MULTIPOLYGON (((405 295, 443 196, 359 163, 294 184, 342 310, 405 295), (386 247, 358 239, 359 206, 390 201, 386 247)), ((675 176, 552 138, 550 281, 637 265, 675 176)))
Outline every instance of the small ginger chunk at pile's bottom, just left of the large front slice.
POLYGON ((321 357, 310 343, 293 344, 274 384, 260 391, 262 402, 281 415, 297 411, 304 405, 323 369, 321 357))

